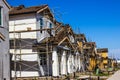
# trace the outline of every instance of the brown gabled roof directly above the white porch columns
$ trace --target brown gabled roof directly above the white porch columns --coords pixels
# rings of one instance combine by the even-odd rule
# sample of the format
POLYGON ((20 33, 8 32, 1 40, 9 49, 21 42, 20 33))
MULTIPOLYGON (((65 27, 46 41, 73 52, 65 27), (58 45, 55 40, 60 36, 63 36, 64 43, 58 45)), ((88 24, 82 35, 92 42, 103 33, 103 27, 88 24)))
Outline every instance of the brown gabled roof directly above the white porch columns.
MULTIPOLYGON (((52 43, 52 44, 54 44, 54 46, 70 45, 72 47, 72 49, 74 49, 73 44, 70 42, 70 40, 68 38, 69 29, 70 29, 70 26, 67 26, 67 25, 60 26, 58 29, 58 32, 55 36, 46 37, 43 40, 41 40, 39 43, 35 44, 33 47, 36 47, 39 45, 46 46, 46 43, 52 43)), ((49 30, 48 30, 48 32, 49 32, 49 30)))

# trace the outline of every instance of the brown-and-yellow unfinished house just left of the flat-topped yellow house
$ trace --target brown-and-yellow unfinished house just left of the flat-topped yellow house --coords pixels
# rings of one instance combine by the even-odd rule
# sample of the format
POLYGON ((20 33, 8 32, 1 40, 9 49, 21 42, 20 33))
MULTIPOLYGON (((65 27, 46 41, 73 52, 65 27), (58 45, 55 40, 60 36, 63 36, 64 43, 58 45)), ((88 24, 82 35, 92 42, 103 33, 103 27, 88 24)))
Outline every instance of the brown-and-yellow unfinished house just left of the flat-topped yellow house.
POLYGON ((94 71, 97 61, 97 51, 96 51, 96 43, 95 42, 86 42, 83 46, 84 57, 86 59, 86 69, 88 71, 94 71))

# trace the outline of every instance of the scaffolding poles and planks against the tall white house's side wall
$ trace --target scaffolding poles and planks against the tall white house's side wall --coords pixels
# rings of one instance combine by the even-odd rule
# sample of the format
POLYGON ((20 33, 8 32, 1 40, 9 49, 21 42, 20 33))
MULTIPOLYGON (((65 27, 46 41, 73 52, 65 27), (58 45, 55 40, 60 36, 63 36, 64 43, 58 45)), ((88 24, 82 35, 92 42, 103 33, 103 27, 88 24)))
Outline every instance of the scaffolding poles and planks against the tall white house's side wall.
MULTIPOLYGON (((24 41, 21 38, 21 33, 38 32, 38 31, 49 31, 49 30, 54 30, 54 28, 51 28, 51 29, 37 29, 37 30, 21 30, 21 31, 11 31, 11 32, 9 32, 10 34, 14 34, 14 39, 13 39, 14 54, 12 54, 12 55, 14 55, 14 61, 13 61, 13 63, 14 63, 14 80, 17 79, 17 66, 18 66, 17 64, 18 63, 20 64, 19 65, 19 69, 20 69, 19 74, 20 74, 20 77, 21 77, 21 65, 27 66, 28 68, 26 68, 26 70, 28 70, 28 69, 36 69, 35 66, 37 65, 37 64, 35 64, 33 66, 29 66, 29 65, 27 65, 25 63, 22 63, 23 60, 22 60, 21 56, 22 55, 27 55, 28 53, 22 53, 21 50, 22 50, 22 47, 26 47, 28 45, 26 45, 26 46, 25 45, 24 46, 21 45, 21 42, 24 41), (16 34, 18 35, 18 38, 16 38, 16 36, 15 36, 16 34), (17 43, 19 44, 19 46, 18 46, 17 43), (17 50, 19 50, 19 54, 17 54, 17 50)), ((46 39, 46 42, 47 41, 48 41, 48 37, 46 39)), ((33 46, 32 42, 27 42, 27 43, 29 43, 29 45, 33 46)), ((46 53, 46 55, 47 55, 47 69, 48 69, 47 70, 47 72, 48 72, 47 76, 49 76, 49 53, 52 52, 52 46, 51 46, 51 49, 50 49, 51 51, 49 51, 48 48, 49 48, 49 45, 48 45, 48 42, 47 42, 46 43, 46 47, 45 47, 46 52, 40 52, 40 53, 46 53)), ((40 53, 37 53, 37 54, 40 54, 40 53)), ((30 53, 30 54, 35 54, 35 53, 30 53)), ((28 55, 30 55, 30 54, 28 54, 28 55)), ((36 70, 39 71, 39 69, 36 69, 36 70)))

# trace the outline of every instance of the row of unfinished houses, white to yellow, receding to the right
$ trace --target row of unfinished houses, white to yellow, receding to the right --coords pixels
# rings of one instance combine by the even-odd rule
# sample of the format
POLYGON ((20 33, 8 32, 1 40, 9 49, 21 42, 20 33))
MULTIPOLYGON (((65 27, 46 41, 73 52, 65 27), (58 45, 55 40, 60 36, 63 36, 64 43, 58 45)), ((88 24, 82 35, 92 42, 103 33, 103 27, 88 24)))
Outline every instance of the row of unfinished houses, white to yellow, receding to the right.
POLYGON ((14 78, 59 77, 75 72, 95 71, 96 67, 101 70, 114 67, 114 62, 109 61, 107 48, 97 48, 96 43, 89 42, 85 34, 76 34, 69 24, 58 22, 48 5, 7 6, 10 46, 6 45, 4 49, 10 47, 6 53, 10 54, 6 58, 6 74, 9 75, 1 79, 9 80, 10 75, 14 78))

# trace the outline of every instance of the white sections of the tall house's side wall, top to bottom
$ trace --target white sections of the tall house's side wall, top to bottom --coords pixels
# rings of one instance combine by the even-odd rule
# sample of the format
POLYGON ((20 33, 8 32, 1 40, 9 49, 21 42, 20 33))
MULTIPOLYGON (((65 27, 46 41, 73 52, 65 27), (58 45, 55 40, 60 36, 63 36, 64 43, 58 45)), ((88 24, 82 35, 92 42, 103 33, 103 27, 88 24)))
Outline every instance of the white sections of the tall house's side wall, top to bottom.
MULTIPOLYGON (((24 14, 24 15, 16 15, 16 16, 10 16, 9 21, 10 29, 9 31, 20 31, 20 30, 28 30, 28 28, 31 28, 31 30, 36 30, 36 18, 34 14, 24 14)), ((10 39, 36 39, 37 35, 36 32, 26 32, 26 33, 11 33, 10 39)), ((32 46, 31 42, 26 41, 29 43, 29 46, 32 46)), ((26 45, 24 45, 26 46, 26 45)), ((10 53, 14 54, 22 54, 21 59, 24 61, 37 61, 37 54, 33 54, 32 49, 16 49, 14 52, 14 49, 10 49, 10 53), (32 53, 32 54, 31 54, 32 53), (26 55, 24 55, 26 54, 26 55)), ((37 52, 36 52, 37 53, 37 52)), ((19 57, 17 55, 17 57, 19 57)), ((12 56, 12 60, 14 60, 14 56, 12 56)), ((17 58, 16 60, 20 60, 17 58)), ((29 67, 28 67, 29 68, 29 67)), ((15 72, 12 71, 12 77, 14 77, 15 72)), ((17 77, 28 77, 28 76, 39 76, 38 71, 17 71, 17 77)))

